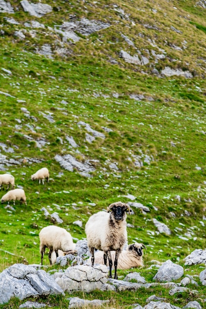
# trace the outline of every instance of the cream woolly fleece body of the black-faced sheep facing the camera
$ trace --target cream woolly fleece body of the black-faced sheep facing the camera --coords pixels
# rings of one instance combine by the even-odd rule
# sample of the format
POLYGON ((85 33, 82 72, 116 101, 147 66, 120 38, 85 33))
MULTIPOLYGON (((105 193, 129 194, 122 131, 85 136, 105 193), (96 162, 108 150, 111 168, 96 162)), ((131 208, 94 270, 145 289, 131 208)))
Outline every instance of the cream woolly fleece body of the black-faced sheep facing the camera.
POLYGON ((124 213, 122 221, 116 221, 112 216, 112 213, 99 211, 88 219, 85 233, 89 249, 92 247, 102 251, 123 249, 127 239, 126 214, 124 213))

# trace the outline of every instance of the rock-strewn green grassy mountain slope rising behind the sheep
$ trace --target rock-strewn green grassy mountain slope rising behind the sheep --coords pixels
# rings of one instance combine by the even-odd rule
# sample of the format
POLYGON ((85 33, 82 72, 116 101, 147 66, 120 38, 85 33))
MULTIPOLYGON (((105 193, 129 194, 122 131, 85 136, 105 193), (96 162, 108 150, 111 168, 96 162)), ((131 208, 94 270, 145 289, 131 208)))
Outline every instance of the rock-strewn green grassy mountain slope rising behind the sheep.
POLYGON ((0 2, 0 170, 27 196, 1 205, 0 270, 40 263, 42 227, 82 239, 88 217, 119 200, 148 207, 127 217, 146 261, 205 249, 204 3, 41 1, 50 9, 36 17, 0 2))

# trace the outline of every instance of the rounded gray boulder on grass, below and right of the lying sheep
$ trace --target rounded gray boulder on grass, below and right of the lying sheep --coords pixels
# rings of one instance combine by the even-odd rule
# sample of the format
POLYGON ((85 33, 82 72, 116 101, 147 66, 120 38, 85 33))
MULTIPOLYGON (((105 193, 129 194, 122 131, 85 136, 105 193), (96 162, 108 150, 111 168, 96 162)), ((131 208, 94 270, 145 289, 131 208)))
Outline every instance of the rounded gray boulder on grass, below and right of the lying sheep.
POLYGON ((180 265, 172 263, 170 260, 167 260, 159 268, 158 272, 154 276, 154 280, 157 281, 173 281, 179 279, 184 274, 184 269, 180 265))

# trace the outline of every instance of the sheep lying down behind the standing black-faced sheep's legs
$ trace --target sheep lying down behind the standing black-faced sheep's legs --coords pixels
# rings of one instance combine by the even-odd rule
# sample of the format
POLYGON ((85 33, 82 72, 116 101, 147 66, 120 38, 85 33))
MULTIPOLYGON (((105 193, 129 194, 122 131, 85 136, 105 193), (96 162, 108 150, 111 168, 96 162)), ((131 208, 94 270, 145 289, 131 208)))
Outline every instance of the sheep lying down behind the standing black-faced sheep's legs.
MULTIPOLYGON (((145 245, 142 243, 132 243, 127 247, 126 250, 123 250, 118 258, 118 270, 129 270, 132 267, 140 267, 144 266, 143 264, 143 251, 142 249, 145 248, 145 245)), ((115 260, 115 251, 111 251, 112 262, 114 263, 115 260)), ((97 251, 94 254, 94 259, 96 264, 104 264, 104 253, 102 251, 97 251)), ((90 263, 91 258, 89 258, 86 262, 90 263)), ((108 266, 108 263, 107 263, 108 266)))

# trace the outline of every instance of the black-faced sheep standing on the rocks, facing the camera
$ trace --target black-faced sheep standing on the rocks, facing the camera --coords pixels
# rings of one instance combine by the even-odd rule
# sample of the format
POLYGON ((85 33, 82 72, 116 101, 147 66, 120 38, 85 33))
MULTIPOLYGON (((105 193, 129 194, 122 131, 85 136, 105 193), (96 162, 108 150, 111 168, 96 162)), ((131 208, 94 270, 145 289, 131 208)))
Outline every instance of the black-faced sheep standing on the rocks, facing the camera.
POLYGON ((107 212, 99 211, 92 215, 86 225, 85 233, 87 244, 91 252, 91 265, 94 265, 94 248, 104 252, 104 264, 109 260, 109 277, 112 278, 112 257, 110 251, 115 254, 115 275, 117 279, 117 265, 120 252, 127 240, 126 212, 130 212, 128 205, 116 202, 107 208, 107 212))

